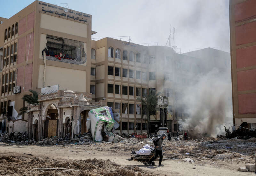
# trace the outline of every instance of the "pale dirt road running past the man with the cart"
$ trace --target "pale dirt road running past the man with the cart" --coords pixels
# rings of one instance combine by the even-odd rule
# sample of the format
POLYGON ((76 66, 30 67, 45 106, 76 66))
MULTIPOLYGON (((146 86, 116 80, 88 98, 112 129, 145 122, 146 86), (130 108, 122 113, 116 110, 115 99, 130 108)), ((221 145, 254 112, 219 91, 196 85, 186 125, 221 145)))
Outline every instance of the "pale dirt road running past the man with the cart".
MULTIPOLYGON (((105 144, 108 145, 108 144, 105 144)), ((110 144, 111 145, 111 144, 110 144)), ((120 165, 133 166, 137 165, 142 170, 158 175, 254 175, 252 172, 238 172, 239 166, 244 166, 244 162, 236 159, 228 160, 195 160, 195 163, 185 163, 181 159, 165 160, 164 167, 144 166, 142 163, 127 161, 130 157, 130 151, 102 150, 97 147, 87 147, 82 145, 68 146, 37 146, 37 145, 3 145, 0 146, 0 155, 3 156, 27 156, 40 158, 48 157, 50 159, 64 159, 68 161, 85 160, 85 159, 109 159, 120 165), (25 155, 24 155, 25 153, 25 155), (32 155, 26 155, 32 154, 32 155)), ((158 164, 156 162, 156 164, 158 164)))

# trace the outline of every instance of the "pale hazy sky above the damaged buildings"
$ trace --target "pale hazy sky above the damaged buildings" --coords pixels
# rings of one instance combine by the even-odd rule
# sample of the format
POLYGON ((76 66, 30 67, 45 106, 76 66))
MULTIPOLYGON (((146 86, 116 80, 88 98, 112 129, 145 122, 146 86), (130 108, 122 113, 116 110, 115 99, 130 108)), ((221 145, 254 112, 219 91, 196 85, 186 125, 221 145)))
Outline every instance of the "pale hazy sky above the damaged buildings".
MULTIPOLYGON (((0 0, 0 16, 10 18, 32 2, 33 0, 0 0)), ((68 3, 70 9, 91 14, 92 30, 98 32, 93 38, 131 36, 132 42, 136 44, 157 42, 158 45, 165 45, 172 24, 175 28, 172 45, 181 48, 182 53, 205 47, 217 47, 216 49, 230 52, 228 0, 44 2, 68 3)))

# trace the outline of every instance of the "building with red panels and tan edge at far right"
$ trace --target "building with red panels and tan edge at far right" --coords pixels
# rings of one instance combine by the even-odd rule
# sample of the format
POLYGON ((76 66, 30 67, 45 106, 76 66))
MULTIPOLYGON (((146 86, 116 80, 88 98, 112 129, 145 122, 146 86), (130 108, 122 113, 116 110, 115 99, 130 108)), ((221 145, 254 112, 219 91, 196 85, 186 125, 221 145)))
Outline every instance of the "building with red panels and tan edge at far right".
MULTIPOLYGON (((234 124, 256 127, 256 1, 229 1, 234 124)), ((239 126, 236 126, 236 129, 239 126)))

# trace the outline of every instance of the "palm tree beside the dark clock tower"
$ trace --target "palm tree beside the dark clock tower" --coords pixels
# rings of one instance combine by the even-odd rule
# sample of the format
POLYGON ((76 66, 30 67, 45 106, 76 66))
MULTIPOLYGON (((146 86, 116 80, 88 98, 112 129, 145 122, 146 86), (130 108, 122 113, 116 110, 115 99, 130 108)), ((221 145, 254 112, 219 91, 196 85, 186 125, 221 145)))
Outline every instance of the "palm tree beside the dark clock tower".
POLYGON ((147 115, 147 131, 148 134, 150 132, 150 115, 155 115, 157 110, 157 96, 159 93, 156 93, 156 90, 150 90, 147 95, 143 94, 142 98, 137 98, 137 100, 141 100, 142 102, 142 113, 141 118, 143 118, 143 113, 146 112, 147 115))

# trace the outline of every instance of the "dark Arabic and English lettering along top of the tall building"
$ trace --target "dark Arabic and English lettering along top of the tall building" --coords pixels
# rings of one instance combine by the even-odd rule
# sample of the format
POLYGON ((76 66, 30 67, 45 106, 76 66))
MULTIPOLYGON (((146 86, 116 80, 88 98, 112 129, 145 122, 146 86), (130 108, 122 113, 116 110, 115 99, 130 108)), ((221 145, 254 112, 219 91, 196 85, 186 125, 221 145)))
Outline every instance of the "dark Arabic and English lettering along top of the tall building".
POLYGON ((67 9, 67 8, 52 5, 52 4, 47 4, 44 2, 38 2, 38 4, 41 5, 42 7, 41 11, 46 14, 47 13, 55 14, 59 17, 66 18, 68 20, 74 20, 74 21, 83 22, 83 23, 88 23, 91 20, 91 15, 88 15, 86 13, 73 11, 71 9, 67 9))

